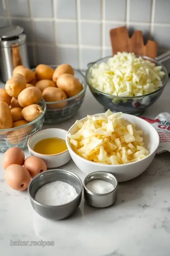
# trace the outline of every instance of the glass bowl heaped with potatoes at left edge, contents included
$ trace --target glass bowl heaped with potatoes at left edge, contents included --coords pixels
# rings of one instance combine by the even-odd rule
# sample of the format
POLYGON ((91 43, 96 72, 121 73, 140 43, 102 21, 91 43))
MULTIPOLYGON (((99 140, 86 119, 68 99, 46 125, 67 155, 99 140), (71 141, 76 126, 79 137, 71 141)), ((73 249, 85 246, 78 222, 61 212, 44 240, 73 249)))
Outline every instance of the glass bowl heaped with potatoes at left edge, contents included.
POLYGON ((26 148, 28 138, 42 129, 46 103, 40 89, 29 85, 34 78, 33 71, 17 66, 0 88, 0 152, 26 148))

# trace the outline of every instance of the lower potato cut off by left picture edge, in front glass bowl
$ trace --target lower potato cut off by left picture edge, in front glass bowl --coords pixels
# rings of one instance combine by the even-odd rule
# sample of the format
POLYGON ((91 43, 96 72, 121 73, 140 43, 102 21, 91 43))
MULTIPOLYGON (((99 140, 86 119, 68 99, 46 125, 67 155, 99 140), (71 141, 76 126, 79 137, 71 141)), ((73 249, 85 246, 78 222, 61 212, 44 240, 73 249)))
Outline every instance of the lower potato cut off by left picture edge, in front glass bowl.
POLYGON ((12 115, 6 102, 0 101, 0 129, 12 128, 12 115))

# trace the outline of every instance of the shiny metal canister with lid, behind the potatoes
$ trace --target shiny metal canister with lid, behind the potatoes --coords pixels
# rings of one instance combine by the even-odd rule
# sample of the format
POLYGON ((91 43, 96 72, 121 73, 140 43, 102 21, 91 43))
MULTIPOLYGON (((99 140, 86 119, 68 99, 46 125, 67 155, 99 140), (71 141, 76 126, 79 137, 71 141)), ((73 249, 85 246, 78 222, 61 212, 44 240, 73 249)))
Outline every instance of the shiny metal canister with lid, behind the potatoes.
POLYGON ((0 79, 3 82, 12 76, 18 65, 29 68, 26 34, 19 26, 0 28, 0 79))

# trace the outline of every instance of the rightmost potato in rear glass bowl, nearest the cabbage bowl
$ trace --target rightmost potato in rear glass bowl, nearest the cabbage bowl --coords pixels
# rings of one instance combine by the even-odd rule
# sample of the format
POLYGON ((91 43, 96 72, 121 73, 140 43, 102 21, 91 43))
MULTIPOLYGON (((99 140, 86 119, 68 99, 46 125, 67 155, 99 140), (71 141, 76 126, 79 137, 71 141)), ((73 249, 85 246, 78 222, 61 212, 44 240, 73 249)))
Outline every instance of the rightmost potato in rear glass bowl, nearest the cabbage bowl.
POLYGON ((57 79, 57 86, 63 90, 68 98, 75 96, 83 90, 83 85, 71 74, 62 74, 57 79))

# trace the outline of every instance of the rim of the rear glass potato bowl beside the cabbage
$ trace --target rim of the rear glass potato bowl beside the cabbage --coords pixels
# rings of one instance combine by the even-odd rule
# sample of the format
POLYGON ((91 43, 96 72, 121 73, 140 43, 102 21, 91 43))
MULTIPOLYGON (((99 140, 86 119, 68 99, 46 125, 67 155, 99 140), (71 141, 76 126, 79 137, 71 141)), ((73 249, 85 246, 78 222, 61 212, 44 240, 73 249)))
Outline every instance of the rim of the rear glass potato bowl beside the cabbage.
MULTIPOLYGON (((52 68, 57 68, 59 65, 48 65, 52 68)), ((79 73, 84 79, 85 79, 85 75, 83 73, 81 73, 81 71, 79 69, 75 69, 73 68, 74 71, 76 71, 77 73, 79 73)), ((35 68, 33 68, 32 70, 35 70, 35 68)), ((76 94, 75 96, 73 97, 70 97, 66 100, 62 100, 62 101, 45 101, 46 104, 57 104, 57 103, 61 103, 61 102, 68 102, 68 101, 72 101, 72 100, 75 100, 76 98, 78 98, 80 95, 82 95, 87 89, 87 82, 86 82, 86 79, 85 79, 85 84, 84 84, 84 87, 83 87, 83 90, 80 91, 78 94, 76 94)))

